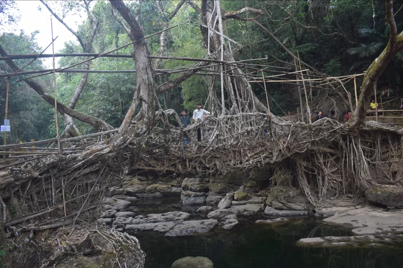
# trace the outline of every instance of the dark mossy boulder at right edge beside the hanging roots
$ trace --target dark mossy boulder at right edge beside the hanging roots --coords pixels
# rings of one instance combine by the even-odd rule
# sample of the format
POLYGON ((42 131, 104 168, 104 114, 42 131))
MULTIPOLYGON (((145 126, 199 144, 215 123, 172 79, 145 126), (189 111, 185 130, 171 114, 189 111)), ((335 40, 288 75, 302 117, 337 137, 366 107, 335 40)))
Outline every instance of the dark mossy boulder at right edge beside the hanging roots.
POLYGON ((393 187, 374 187, 365 191, 365 196, 372 204, 384 206, 403 206, 403 190, 393 187))

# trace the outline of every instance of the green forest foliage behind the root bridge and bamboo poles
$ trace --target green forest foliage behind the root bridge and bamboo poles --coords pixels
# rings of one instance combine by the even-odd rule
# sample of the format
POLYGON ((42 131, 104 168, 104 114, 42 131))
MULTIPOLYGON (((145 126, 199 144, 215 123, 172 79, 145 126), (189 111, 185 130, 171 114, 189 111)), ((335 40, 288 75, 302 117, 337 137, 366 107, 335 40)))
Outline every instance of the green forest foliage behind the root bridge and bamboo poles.
MULTIPOLYGON (((241 10, 249 7, 262 10, 258 23, 251 19, 253 12, 244 12, 241 19, 224 19, 224 33, 234 42, 231 43, 235 60, 267 58, 253 64, 276 66, 267 68, 267 75, 276 75, 278 70, 295 71, 295 59, 291 54, 299 53, 301 62, 328 76, 341 76, 362 73, 370 66, 388 44, 390 26, 386 18, 384 1, 220 1, 221 9, 241 10), (268 33, 270 32, 270 34, 268 33), (273 38, 275 37, 275 39, 273 38), (272 70, 272 71, 271 71, 272 70)), ((38 2, 39 3, 39 2, 38 2)), ((403 1, 394 1, 393 10, 397 32, 403 30, 403 1)), ((50 10, 61 20, 77 10, 87 10, 88 18, 79 25, 77 39, 64 43, 64 48, 55 53, 92 52, 103 53, 129 43, 127 26, 112 5, 105 1, 69 1, 39 3, 44 16, 50 10), (45 4, 47 6, 45 6, 45 4), (118 18, 118 20, 116 20, 118 18), (95 30, 94 30, 95 29, 95 30), (92 38, 92 39, 91 39, 92 38)), ((127 6, 137 12, 138 1, 128 1, 127 6)), ((165 41, 160 35, 147 39, 150 55, 206 58, 208 50, 203 40, 200 27, 200 13, 197 8, 201 1, 144 1, 142 2, 139 21, 145 35, 151 35, 168 26, 177 27, 166 31, 165 41), (179 5, 180 8, 174 11, 179 5), (173 14, 174 12, 174 14, 173 14), (173 16, 172 16, 173 14, 173 16), (161 44, 164 48, 161 49, 161 44)), ((16 6, 13 1, 0 1, 1 25, 18 21, 16 6)), ((42 25, 38 25, 40 30, 42 25)), ((0 45, 7 54, 38 54, 44 49, 39 47, 35 32, 19 34, 2 33, 0 45)), ((119 49, 116 54, 131 54, 131 46, 119 49)), ((50 53, 49 49, 46 53, 50 53)), ((85 57, 63 57, 56 68, 66 67, 83 61, 85 57)), ((30 59, 15 60, 22 67, 30 59)), ((189 61, 151 60, 155 70, 186 68, 189 61)), ((403 96, 401 89, 403 52, 396 54, 377 82, 377 94, 384 99, 403 96)), ((1 72, 12 73, 6 62, 1 61, 1 72)), ((193 65, 191 65, 193 66, 193 65)), ((135 70, 133 58, 97 58, 88 66, 81 64, 76 68, 91 70, 135 70)), ((41 59, 35 60, 24 70, 47 69, 41 59)), ((251 65, 253 68, 253 65, 251 65)), ((250 70, 251 72, 253 70, 250 70)), ((73 109, 103 120, 113 128, 118 128, 131 106, 136 75, 134 73, 57 73, 57 99, 68 105, 77 91, 83 76, 87 75, 79 98, 73 109)), ((181 74, 170 73, 156 78, 158 85, 174 80, 181 74)), ((52 75, 37 79, 44 89, 53 95, 52 75)), ((209 94, 208 75, 193 75, 172 89, 158 95, 162 109, 174 109, 178 114, 182 109, 191 113, 198 102, 205 103, 209 94)), ((362 83, 357 77, 357 85, 362 83)), ((215 90, 220 95, 220 81, 215 80, 215 90)), ((4 117, 6 97, 6 77, 0 79, 0 107, 4 117)), ((251 83, 252 91, 262 103, 266 103, 266 94, 262 83, 251 83)), ((284 116, 288 111, 295 113, 299 101, 295 98, 295 85, 286 83, 268 83, 270 111, 274 115, 284 116)), ((354 94, 353 84, 346 85, 347 91, 354 94)), ((312 94, 315 96, 318 90, 312 94)), ((358 92, 359 94, 359 92, 358 92)), ((229 96, 225 96, 229 98, 229 96)), ((312 99, 311 99, 312 100, 312 99)), ((59 113, 59 129, 64 130, 66 121, 59 113)), ((26 83, 14 76, 10 80, 8 118, 11 123, 11 142, 31 138, 46 139, 56 135, 54 108, 46 103, 26 83)), ((72 119, 80 134, 96 132, 91 124, 72 119)), ((174 123, 175 124, 175 123, 174 123)), ((62 131, 60 133, 63 133, 62 131)), ((3 137, 0 137, 3 139, 3 137)), ((2 142, 2 141, 0 141, 2 142)))

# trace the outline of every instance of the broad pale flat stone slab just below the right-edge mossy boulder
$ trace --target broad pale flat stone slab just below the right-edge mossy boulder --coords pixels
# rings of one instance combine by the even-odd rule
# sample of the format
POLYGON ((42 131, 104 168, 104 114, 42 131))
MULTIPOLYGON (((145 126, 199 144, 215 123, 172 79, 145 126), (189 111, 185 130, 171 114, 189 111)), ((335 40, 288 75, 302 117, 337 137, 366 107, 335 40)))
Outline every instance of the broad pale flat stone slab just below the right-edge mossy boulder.
POLYGON ((357 234, 402 233, 403 210, 365 206, 324 219, 325 223, 353 227, 357 234))

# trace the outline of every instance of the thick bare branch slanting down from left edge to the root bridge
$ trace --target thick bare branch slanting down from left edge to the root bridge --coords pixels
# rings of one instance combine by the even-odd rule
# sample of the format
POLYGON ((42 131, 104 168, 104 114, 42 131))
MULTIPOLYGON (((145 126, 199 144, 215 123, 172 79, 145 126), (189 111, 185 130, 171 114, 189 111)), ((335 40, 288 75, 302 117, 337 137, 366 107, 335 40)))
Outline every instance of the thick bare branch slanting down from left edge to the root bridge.
MULTIPOLYGON (((6 57, 7 53, 4 51, 3 47, 0 45, 0 54, 2 57, 6 57)), ((19 70, 19 67, 12 61, 12 60, 5 60, 5 62, 10 66, 10 68, 14 71, 19 70)), ((47 101, 50 105, 54 107, 54 98, 48 94, 47 91, 43 89, 41 85, 39 85, 38 82, 26 78, 23 79, 24 82, 26 82, 33 90, 35 90, 45 101, 47 101)), ((108 123, 104 122, 103 120, 90 116, 90 115, 85 115, 83 113, 77 112, 69 107, 66 107, 64 104, 57 102, 57 110, 61 114, 67 114, 70 115, 71 117, 80 120, 82 122, 88 123, 92 126, 94 126, 97 129, 101 130, 112 130, 114 129, 112 126, 110 126, 108 123)))

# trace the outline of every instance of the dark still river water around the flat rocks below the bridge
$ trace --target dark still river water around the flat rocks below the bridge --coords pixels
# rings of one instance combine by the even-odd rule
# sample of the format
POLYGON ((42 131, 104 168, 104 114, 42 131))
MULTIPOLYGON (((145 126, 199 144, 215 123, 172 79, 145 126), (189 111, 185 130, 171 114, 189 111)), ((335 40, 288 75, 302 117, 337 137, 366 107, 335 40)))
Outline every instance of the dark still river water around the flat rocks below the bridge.
MULTIPOLYGON (((179 199, 136 200, 131 206, 137 214, 183 210, 191 219, 204 219, 196 207, 182 207, 179 199)), ((305 237, 351 236, 349 229, 324 225, 320 219, 306 217, 276 225, 256 224, 262 216, 239 218, 240 224, 225 230, 215 227, 206 235, 166 237, 160 233, 132 233, 146 254, 145 268, 170 268, 186 256, 204 256, 214 268, 273 267, 349 267, 401 268, 403 247, 394 248, 324 248, 297 247, 305 237)))

